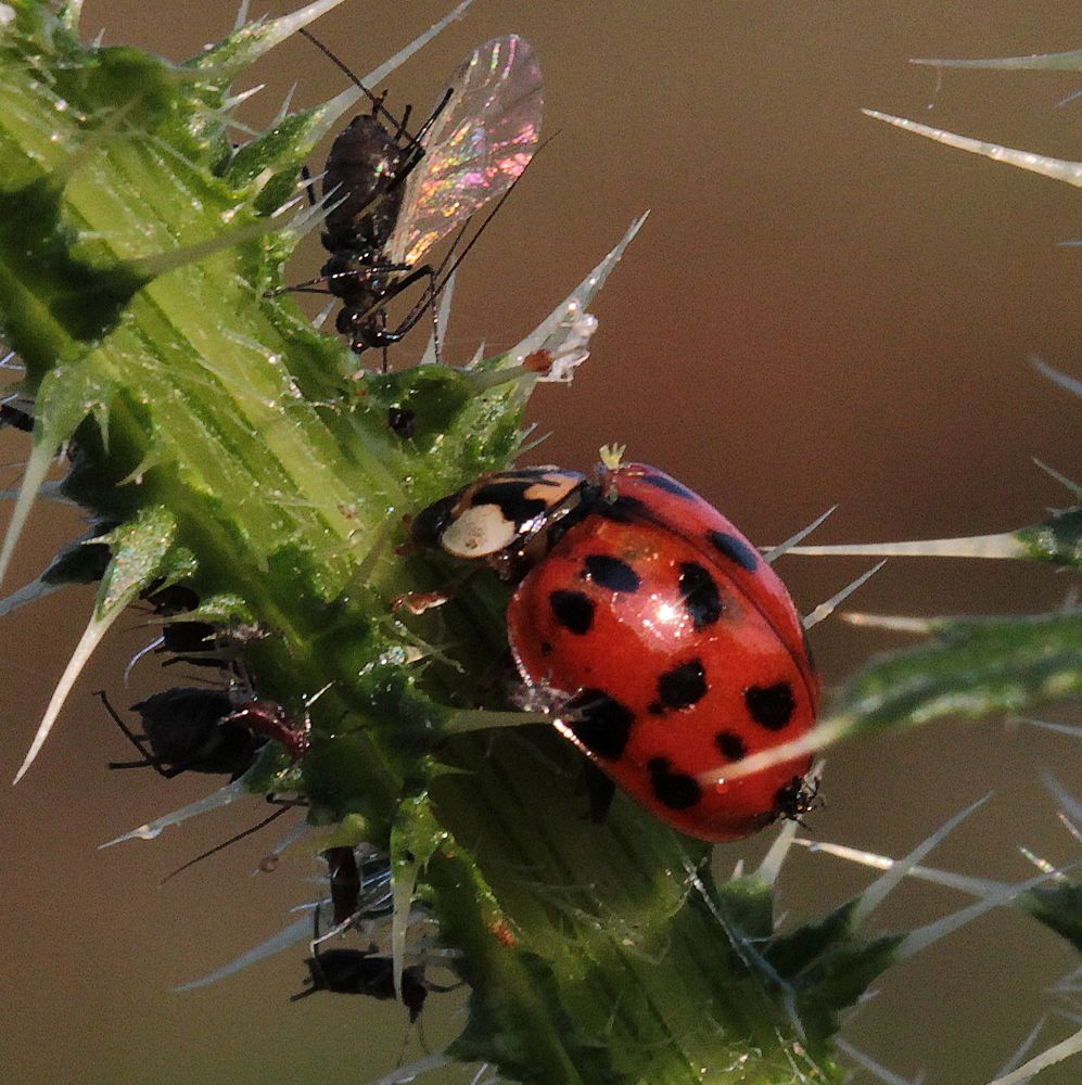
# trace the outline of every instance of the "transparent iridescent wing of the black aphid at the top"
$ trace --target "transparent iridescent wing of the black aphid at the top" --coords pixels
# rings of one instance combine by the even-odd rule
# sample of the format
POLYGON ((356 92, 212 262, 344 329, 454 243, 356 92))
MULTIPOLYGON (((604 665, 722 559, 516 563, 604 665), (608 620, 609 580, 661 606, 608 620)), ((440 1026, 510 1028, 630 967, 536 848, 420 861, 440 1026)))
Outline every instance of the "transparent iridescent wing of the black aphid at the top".
POLYGON ((387 255, 412 266, 526 168, 540 138, 540 65, 517 34, 478 46, 409 175, 387 255))

